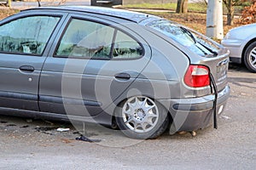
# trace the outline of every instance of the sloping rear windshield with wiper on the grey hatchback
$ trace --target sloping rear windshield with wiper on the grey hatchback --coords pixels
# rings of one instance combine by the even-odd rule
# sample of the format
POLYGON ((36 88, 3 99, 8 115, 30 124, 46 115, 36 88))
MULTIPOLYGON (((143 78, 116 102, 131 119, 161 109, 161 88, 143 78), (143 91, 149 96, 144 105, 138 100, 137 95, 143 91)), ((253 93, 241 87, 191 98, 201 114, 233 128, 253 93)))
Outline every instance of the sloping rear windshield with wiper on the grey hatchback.
POLYGON ((195 31, 190 31, 183 26, 179 26, 170 20, 154 20, 147 26, 171 37, 174 41, 189 48, 195 54, 205 57, 212 57, 218 54, 218 46, 210 42, 206 37, 195 31))

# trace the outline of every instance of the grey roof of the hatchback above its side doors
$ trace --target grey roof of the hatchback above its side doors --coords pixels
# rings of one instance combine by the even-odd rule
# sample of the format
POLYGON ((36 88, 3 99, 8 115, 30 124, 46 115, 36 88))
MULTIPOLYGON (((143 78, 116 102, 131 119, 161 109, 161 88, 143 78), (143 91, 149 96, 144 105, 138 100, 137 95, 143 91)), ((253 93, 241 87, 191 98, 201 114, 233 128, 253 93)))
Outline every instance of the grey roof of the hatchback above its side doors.
POLYGON ((76 11, 84 12, 90 14, 102 14, 106 16, 112 16, 124 20, 130 20, 132 22, 139 23, 148 18, 158 19, 159 17, 151 14, 143 14, 138 12, 133 12, 125 9, 117 8, 104 8, 104 7, 94 7, 94 6, 55 6, 55 7, 40 7, 40 8, 29 8, 26 10, 37 10, 37 9, 51 9, 51 10, 65 10, 65 11, 76 11))

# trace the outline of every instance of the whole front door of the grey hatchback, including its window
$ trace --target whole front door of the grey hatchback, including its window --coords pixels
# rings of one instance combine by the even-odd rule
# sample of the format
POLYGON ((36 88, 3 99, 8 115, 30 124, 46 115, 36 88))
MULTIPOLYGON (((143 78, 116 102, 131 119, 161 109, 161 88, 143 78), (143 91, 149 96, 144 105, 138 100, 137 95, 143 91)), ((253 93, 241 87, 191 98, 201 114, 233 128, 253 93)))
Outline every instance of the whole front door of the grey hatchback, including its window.
POLYGON ((0 107, 38 111, 39 76, 61 15, 18 14, 0 24, 0 107))

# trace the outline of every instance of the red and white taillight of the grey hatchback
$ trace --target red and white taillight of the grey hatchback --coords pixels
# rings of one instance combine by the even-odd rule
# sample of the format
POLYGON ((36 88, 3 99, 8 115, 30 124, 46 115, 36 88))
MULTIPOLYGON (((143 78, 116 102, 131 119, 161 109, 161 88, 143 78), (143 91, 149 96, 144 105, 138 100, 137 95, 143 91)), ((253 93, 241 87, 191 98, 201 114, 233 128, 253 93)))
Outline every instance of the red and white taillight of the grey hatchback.
POLYGON ((209 69, 204 65, 189 65, 184 82, 192 88, 201 88, 210 85, 209 69))

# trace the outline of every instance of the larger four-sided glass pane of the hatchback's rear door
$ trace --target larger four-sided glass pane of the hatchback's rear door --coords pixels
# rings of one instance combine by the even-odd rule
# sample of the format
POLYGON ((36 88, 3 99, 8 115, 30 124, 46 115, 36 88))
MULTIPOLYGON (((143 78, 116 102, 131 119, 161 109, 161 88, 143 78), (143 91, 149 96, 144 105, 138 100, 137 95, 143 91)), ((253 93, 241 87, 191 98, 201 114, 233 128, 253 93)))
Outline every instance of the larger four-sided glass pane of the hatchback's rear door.
POLYGON ((88 20, 71 20, 56 56, 109 59, 114 28, 88 20))

